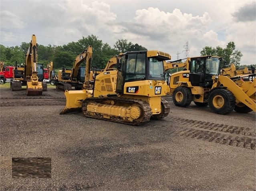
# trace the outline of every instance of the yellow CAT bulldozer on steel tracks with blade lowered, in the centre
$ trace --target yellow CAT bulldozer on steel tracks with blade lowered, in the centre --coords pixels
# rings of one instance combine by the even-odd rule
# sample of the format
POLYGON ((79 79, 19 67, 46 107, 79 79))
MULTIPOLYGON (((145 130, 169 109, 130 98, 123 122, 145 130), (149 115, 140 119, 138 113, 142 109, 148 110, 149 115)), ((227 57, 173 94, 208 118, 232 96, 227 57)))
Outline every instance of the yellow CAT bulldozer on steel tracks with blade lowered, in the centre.
POLYGON ((92 47, 87 48, 85 89, 65 91, 60 114, 83 111, 89 118, 140 125, 169 114, 163 61, 171 56, 157 50, 120 53, 116 68, 107 68, 89 83, 92 47))

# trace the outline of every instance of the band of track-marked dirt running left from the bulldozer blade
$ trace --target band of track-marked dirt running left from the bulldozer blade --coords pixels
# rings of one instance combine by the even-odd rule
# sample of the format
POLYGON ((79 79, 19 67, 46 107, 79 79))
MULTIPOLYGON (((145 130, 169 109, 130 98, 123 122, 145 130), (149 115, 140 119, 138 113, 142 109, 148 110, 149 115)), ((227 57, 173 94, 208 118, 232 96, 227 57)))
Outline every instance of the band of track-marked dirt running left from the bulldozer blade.
POLYGON ((45 106, 45 105, 65 105, 64 97, 2 97, 0 106, 45 106))

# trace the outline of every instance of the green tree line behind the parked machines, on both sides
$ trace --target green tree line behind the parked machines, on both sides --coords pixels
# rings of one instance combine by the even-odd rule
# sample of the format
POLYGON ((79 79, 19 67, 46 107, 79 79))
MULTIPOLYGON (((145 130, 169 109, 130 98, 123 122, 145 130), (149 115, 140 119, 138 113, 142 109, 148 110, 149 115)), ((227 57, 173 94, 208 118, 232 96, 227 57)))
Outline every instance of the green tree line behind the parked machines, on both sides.
MULTIPOLYGON (((137 43, 133 44, 127 39, 119 39, 116 41, 114 48, 107 43, 103 43, 102 40, 98 39, 95 35, 89 35, 82 37, 77 42, 71 42, 67 45, 47 46, 40 45, 38 42, 38 63, 43 63, 46 66, 50 61, 53 61, 53 68, 55 70, 61 69, 63 65, 66 68, 72 68, 74 59, 83 52, 89 45, 93 47, 93 61, 92 67, 95 69, 104 69, 107 61, 113 56, 126 51, 140 51, 147 50, 137 43)), ((4 61, 5 65, 15 65, 25 62, 25 55, 29 47, 29 42, 22 42, 20 46, 5 47, 0 45, 1 61, 4 61)), ((206 46, 200 52, 201 55, 216 55, 222 56, 226 60, 226 64, 234 63, 236 66, 240 65, 242 57, 241 51, 236 50, 234 42, 229 42, 226 48, 220 46, 214 48, 206 46)), ((199 56, 199 55, 194 55, 199 56)), ((192 57, 194 57, 192 56, 192 57)))

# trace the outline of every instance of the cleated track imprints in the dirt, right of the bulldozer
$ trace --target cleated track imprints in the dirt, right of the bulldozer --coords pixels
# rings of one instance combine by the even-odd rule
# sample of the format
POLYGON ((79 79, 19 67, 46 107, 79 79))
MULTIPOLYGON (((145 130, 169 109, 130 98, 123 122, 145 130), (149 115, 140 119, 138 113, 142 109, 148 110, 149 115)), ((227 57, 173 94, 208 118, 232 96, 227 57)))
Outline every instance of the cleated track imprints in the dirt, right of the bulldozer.
POLYGON ((181 126, 179 136, 255 150, 255 128, 238 127, 183 118, 165 118, 181 126))

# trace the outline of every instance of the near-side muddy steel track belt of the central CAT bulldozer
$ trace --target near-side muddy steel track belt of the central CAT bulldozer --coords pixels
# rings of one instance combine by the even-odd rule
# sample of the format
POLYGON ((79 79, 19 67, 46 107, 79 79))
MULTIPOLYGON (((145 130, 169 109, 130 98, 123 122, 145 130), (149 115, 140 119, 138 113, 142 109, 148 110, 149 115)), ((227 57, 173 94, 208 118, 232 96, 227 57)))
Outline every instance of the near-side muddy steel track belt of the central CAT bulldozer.
MULTIPOLYGON (((126 107, 126 109, 128 108, 128 106, 126 107)), ((117 123, 122 123, 122 124, 129 124, 129 125, 141 125, 141 124, 145 124, 147 122, 149 122, 150 118, 151 118, 151 108, 150 105, 142 100, 137 100, 137 99, 126 99, 126 98, 120 98, 120 97, 115 97, 115 98, 86 98, 83 101, 82 104, 82 111, 83 114, 86 117, 89 118, 95 118, 95 119, 100 119, 100 120, 107 120, 107 121, 111 121, 111 122, 117 122, 117 123), (115 104, 106 104, 106 102, 115 102, 115 104), (87 110, 87 106, 89 104, 93 104, 95 106, 100 105, 101 107, 105 106, 107 107, 124 107, 122 105, 129 105, 132 106, 134 104, 136 104, 137 106, 139 105, 143 111, 142 117, 139 117, 133 121, 129 121, 129 120, 125 120, 123 119, 124 116, 118 116, 118 115, 110 115, 109 118, 105 118, 105 114, 101 113, 101 112, 93 112, 93 114, 91 114, 91 112, 88 112, 87 110)))

